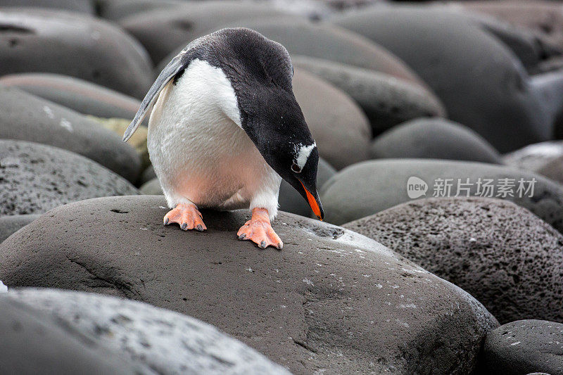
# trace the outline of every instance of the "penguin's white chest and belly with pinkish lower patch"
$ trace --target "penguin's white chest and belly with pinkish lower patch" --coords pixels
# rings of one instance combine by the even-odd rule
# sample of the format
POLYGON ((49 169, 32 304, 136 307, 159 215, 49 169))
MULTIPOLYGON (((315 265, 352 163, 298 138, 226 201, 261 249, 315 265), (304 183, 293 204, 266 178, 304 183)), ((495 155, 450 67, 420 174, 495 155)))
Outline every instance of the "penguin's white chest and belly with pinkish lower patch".
POLYGON ((148 152, 170 206, 189 200, 201 208, 242 208, 272 179, 279 189, 279 177, 240 124, 220 69, 195 60, 167 84, 148 123, 148 152))

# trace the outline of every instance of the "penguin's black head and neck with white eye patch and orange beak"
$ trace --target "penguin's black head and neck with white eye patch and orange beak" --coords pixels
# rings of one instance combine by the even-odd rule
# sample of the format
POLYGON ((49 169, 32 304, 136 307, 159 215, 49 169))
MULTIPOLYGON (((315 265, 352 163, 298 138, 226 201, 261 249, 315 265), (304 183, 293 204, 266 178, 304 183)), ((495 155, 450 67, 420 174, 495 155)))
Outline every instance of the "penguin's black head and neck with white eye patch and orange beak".
POLYGON ((281 44, 245 28, 215 33, 213 58, 236 94, 241 126, 262 157, 322 220, 317 192, 319 151, 293 95, 293 65, 281 44))

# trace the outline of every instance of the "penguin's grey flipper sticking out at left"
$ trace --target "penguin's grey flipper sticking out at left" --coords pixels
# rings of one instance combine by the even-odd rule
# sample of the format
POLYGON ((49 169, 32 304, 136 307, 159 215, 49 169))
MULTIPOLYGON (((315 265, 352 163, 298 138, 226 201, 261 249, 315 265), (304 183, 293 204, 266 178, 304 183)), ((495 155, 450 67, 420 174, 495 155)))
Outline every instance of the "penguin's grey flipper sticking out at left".
POLYGON ((125 134, 123 134, 124 142, 131 138, 135 130, 137 130, 141 122, 144 120, 148 111, 153 108, 153 105, 156 102, 160 91, 162 91, 165 85, 170 82, 170 80, 174 79, 174 77, 179 72, 182 72, 182 70, 186 69, 191 61, 198 57, 198 49, 196 47, 198 47, 201 42, 203 42, 203 40, 201 39, 203 38, 196 39, 194 40, 194 42, 188 44, 188 46, 186 46, 186 48, 182 49, 180 53, 172 58, 172 61, 170 61, 170 63, 165 66, 163 71, 160 72, 160 74, 156 78, 156 81, 153 83, 151 88, 148 89, 148 92, 141 102, 141 106, 139 107, 139 110, 137 110, 133 121, 125 130, 125 134))

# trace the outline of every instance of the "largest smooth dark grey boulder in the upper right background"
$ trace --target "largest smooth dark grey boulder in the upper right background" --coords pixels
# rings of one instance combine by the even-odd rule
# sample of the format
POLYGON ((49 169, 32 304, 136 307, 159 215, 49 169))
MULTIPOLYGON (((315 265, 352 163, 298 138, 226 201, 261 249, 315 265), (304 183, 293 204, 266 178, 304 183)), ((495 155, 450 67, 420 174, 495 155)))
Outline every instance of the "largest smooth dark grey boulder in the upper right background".
POLYGON ((550 139, 553 118, 543 111, 524 67, 472 18, 439 8, 381 6, 335 22, 402 58, 434 90, 450 119, 499 151, 550 139))

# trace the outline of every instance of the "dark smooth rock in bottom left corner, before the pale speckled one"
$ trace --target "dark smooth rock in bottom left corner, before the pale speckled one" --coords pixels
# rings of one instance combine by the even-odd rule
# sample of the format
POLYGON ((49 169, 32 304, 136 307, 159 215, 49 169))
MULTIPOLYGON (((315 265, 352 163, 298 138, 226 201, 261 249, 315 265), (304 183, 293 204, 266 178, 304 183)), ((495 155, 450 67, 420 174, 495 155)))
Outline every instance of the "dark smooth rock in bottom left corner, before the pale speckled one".
POLYGON ((8 293, 0 293, 0 363, 4 374, 137 373, 125 358, 8 293))

